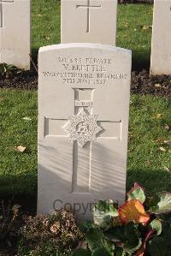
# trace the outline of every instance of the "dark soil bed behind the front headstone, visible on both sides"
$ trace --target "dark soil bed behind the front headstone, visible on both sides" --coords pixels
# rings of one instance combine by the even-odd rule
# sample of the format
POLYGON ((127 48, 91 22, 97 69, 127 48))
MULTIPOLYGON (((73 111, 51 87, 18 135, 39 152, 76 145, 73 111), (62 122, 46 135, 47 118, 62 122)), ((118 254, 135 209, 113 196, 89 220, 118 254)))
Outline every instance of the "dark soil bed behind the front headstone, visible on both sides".
MULTIPOLYGON (((24 71, 1 77, 0 88, 38 89, 38 74, 35 70, 24 71)), ((147 70, 132 72, 131 92, 152 94, 157 96, 171 96, 171 75, 151 75, 147 70)))

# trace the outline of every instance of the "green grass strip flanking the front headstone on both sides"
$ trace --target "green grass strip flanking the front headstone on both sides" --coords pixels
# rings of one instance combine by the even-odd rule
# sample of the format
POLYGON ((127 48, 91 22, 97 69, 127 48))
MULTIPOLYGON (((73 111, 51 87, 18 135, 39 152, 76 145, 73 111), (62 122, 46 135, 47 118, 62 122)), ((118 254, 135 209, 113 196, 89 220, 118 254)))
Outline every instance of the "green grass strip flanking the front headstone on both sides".
MULTIPOLYGON (((37 190, 37 92, 1 90, 0 193, 37 190), (27 117, 27 118, 26 118, 27 117), (26 146, 26 152, 15 151, 26 146)), ((133 95, 130 105, 127 188, 137 181, 148 193, 171 191, 171 152, 163 140, 170 132, 168 98, 133 95), (160 147, 166 152, 159 150, 160 147)))

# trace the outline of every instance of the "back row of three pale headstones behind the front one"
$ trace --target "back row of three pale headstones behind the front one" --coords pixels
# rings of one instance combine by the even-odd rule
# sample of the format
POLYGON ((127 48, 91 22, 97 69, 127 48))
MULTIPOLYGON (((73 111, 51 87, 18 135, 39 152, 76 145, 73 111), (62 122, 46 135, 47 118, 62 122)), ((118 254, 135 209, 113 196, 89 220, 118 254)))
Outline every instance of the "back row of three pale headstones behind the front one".
MULTIPOLYGON (((62 0, 62 44, 115 45, 117 0, 62 0)), ((170 74, 171 0, 155 0, 150 74, 170 74)), ((0 0, 0 63, 30 69, 31 0, 0 0)))

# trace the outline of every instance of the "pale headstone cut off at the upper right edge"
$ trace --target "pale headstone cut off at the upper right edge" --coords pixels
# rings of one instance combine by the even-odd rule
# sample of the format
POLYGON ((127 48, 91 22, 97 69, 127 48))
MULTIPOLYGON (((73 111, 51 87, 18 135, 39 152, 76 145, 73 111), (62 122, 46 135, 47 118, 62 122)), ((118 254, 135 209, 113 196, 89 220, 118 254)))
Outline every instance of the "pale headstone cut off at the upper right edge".
POLYGON ((171 0, 155 0, 150 74, 171 74, 171 0))

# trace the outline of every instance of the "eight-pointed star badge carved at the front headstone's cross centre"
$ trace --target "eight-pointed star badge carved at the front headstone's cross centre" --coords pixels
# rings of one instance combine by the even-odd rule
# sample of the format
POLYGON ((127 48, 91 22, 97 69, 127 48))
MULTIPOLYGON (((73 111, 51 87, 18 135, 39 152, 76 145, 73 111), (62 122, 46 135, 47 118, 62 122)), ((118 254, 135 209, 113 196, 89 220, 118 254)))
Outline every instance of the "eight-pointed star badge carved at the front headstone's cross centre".
POLYGON ((68 116, 68 123, 63 128, 68 132, 68 141, 77 141, 83 147, 87 142, 95 141, 96 135, 103 130, 97 125, 98 115, 90 115, 83 108, 77 115, 68 116))

